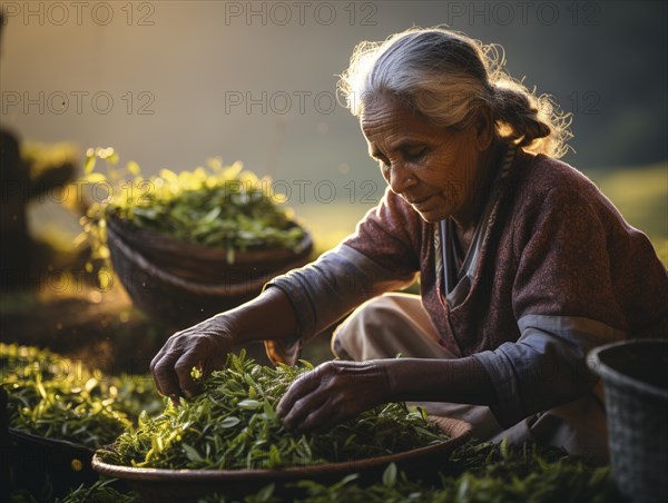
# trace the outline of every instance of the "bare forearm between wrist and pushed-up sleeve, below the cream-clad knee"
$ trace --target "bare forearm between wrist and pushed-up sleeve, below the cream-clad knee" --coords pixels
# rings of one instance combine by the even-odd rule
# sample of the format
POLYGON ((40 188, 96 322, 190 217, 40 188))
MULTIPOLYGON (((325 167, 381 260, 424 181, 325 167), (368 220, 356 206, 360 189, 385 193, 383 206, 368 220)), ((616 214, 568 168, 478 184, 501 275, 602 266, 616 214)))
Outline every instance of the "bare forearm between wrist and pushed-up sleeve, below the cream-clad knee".
POLYGON ((385 367, 393 401, 454 402, 493 405, 489 374, 475 358, 396 358, 379 361, 385 367))

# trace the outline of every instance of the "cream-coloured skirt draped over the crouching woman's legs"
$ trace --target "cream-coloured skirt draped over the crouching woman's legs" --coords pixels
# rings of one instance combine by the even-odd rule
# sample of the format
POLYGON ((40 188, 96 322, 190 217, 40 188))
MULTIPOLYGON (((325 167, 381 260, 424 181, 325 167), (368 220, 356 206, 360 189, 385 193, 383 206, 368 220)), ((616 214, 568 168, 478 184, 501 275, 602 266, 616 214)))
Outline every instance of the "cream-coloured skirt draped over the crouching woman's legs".
MULTIPOLYGON (((439 335, 420 297, 385 294, 360 306, 332 337, 332 351, 341 359, 394 358, 397 353, 413 358, 454 358, 438 343, 439 335)), ((601 384, 574 402, 533 414, 502 428, 487 406, 444 402, 419 403, 428 413, 471 423, 480 441, 512 443, 534 441, 566 448, 591 462, 609 460, 608 431, 601 384)))

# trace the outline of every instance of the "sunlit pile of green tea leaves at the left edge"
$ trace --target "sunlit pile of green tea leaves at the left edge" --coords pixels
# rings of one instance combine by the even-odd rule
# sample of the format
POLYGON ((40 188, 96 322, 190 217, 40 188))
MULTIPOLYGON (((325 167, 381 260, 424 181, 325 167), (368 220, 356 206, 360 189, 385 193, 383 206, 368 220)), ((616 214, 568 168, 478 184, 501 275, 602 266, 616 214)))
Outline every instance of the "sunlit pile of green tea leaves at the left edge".
POLYGON ((48 349, 0 343, 0 368, 10 427, 46 438, 98 448, 164 406, 149 376, 105 376, 48 349))

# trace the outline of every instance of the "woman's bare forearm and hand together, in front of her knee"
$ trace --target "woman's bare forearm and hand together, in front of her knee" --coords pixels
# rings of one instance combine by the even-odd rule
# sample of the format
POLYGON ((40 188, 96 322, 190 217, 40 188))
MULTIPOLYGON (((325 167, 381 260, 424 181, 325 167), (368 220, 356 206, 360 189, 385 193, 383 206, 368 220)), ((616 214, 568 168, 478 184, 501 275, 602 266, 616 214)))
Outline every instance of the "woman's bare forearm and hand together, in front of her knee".
POLYGON ((316 431, 393 401, 492 405, 497 395, 487 371, 472 356, 334 361, 297 378, 276 410, 287 427, 316 431))

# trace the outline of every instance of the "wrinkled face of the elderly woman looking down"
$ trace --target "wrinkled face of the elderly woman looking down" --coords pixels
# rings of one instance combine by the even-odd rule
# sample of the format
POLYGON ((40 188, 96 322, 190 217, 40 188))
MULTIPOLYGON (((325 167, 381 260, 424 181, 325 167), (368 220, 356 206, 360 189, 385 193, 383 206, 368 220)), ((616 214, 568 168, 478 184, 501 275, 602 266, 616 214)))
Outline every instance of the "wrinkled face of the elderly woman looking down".
POLYGON ((477 127, 452 132, 386 97, 375 97, 360 122, 393 193, 426 221, 466 218, 484 150, 477 127))

